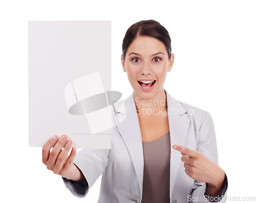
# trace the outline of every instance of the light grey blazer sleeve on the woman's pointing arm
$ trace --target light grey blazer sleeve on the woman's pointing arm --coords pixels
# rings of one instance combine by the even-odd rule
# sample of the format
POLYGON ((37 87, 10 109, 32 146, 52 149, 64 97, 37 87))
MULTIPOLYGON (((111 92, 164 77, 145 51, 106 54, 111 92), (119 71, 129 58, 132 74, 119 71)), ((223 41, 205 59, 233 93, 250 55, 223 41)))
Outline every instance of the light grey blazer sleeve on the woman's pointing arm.
MULTIPOLYGON (((218 164, 218 151, 217 151, 217 142, 216 142, 216 135, 215 135, 215 127, 212 118, 207 112, 206 117, 199 128, 199 137, 198 137, 198 144, 197 144, 197 151, 203 153, 208 159, 214 161, 218 164)), ((199 181, 194 182, 193 190, 191 195, 189 196, 190 203, 196 202, 226 202, 227 198, 227 187, 228 181, 227 176, 225 173, 225 181, 222 190, 220 193, 213 198, 212 200, 208 201, 205 197, 207 184, 199 181)))

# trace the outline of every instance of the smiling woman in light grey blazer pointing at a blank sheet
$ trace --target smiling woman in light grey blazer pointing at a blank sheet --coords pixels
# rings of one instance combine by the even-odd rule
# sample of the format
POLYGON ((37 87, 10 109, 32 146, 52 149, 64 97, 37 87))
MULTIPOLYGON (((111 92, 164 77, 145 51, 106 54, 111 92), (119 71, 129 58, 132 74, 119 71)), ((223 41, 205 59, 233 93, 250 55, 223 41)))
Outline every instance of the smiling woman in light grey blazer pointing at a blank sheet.
POLYGON ((42 148, 42 162, 77 196, 102 174, 98 202, 225 202, 227 178, 210 114, 163 88, 174 63, 167 30, 155 20, 139 21, 127 30, 122 51, 134 92, 116 108, 123 122, 113 128, 112 148, 75 155, 73 147, 68 156, 72 140, 61 151, 67 136, 54 136, 42 148))

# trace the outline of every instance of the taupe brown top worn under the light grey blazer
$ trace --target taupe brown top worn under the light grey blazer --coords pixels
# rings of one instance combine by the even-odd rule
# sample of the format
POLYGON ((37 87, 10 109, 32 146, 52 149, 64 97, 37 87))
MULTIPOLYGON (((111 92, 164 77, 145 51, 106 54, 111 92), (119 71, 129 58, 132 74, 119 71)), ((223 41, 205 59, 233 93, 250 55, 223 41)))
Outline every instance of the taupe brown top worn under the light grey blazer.
POLYGON ((170 133, 143 142, 144 172, 141 203, 169 203, 170 133))

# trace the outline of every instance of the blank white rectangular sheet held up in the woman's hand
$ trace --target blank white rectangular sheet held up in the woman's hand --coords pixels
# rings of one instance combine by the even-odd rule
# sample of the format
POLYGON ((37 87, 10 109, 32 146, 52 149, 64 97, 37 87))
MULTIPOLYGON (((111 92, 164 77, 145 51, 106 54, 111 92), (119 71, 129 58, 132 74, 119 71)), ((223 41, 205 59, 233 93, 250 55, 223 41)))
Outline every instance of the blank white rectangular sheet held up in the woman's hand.
POLYGON ((85 111, 72 115, 69 108, 111 91, 111 21, 29 21, 28 28, 29 146, 67 134, 77 148, 110 148, 108 132, 92 135, 85 111), (82 79, 93 73, 101 81, 93 75, 82 79), (73 88, 77 98, 66 100, 73 88))

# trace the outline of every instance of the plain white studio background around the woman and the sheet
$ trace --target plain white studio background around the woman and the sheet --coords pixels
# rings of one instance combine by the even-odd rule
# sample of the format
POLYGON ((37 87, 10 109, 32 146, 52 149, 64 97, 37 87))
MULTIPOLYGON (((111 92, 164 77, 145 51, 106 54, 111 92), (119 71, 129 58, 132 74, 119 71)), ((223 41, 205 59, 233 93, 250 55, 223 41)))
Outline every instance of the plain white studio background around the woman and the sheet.
POLYGON ((214 119, 228 197, 256 196, 254 1, 2 1, 1 202, 94 203, 100 188, 99 178, 85 198, 73 196, 42 164, 41 148, 28 147, 28 20, 112 20, 112 90, 125 99, 132 88, 122 72, 122 38, 142 19, 159 21, 172 39, 168 93, 214 119))

